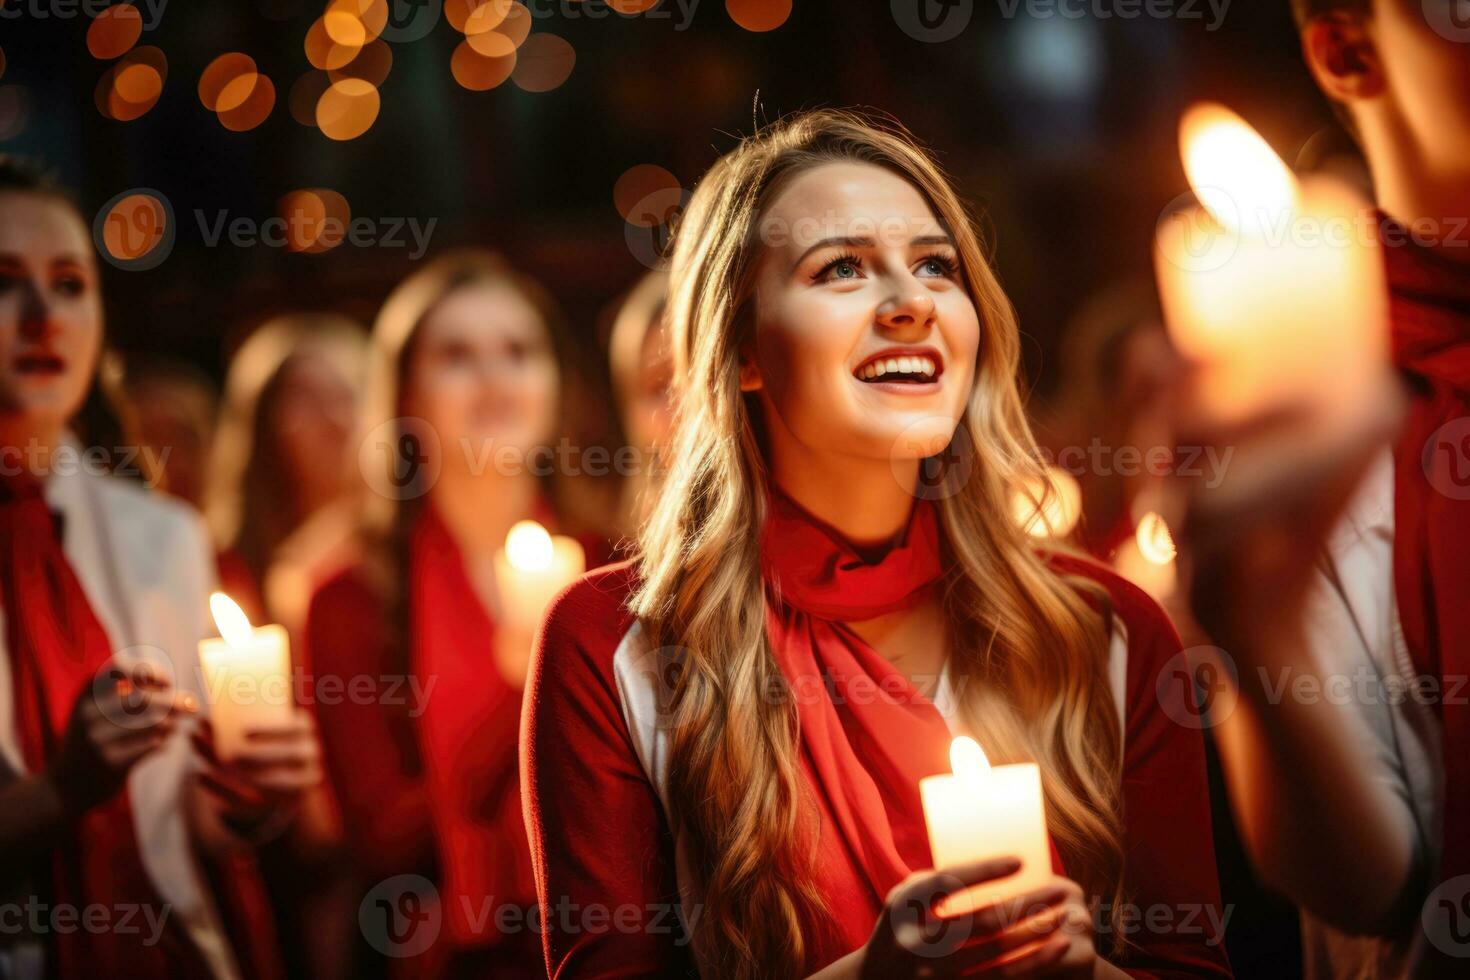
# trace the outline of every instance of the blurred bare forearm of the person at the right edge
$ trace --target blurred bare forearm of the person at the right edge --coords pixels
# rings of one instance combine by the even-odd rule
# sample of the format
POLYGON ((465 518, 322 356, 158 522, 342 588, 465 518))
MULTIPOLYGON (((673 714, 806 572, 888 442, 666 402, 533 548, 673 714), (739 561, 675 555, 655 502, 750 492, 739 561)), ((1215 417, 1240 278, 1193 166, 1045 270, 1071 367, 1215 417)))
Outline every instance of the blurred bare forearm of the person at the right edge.
POLYGON ((1286 667, 1317 670, 1304 644, 1282 636, 1232 652, 1239 701, 1216 741, 1258 874, 1344 930, 1395 932, 1416 873, 1413 821, 1395 818, 1398 801, 1374 780, 1354 705, 1270 688, 1286 667))

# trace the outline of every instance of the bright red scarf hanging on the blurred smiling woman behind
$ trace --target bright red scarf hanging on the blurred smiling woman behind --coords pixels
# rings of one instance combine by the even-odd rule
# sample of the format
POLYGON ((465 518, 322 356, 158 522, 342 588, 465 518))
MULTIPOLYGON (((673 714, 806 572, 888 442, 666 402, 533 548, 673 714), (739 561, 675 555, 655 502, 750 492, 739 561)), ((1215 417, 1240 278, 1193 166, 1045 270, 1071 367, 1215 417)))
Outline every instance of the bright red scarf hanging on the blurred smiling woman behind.
POLYGON ((495 670, 495 624, 432 507, 413 529, 409 569, 413 671, 428 691, 417 732, 447 936, 462 948, 525 945, 529 965, 544 971, 539 936, 501 936, 495 918, 501 907, 537 904, 520 815, 520 691, 495 670))

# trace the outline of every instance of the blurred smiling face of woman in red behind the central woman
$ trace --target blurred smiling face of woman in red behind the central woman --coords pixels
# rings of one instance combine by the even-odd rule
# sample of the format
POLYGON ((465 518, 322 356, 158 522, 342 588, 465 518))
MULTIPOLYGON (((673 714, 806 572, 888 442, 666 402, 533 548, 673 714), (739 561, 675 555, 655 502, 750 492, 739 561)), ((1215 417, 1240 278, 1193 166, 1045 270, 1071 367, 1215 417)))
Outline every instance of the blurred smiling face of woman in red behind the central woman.
POLYGON ((560 376, 541 314, 498 284, 450 292, 413 341, 404 411, 438 433, 445 466, 525 458, 556 436, 560 376))

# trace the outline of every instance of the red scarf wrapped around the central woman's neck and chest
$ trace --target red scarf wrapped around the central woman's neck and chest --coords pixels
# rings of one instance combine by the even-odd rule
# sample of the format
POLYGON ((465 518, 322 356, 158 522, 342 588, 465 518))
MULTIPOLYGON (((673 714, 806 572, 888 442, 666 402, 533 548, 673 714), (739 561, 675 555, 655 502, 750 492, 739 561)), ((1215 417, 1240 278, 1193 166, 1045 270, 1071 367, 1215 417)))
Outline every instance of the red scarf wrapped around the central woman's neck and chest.
MULTIPOLYGON (((914 501, 900 542, 870 563, 778 491, 761 570, 766 629, 797 698, 803 770, 820 820, 813 867, 831 921, 813 937, 817 967, 867 942, 889 889, 933 867, 919 780, 950 771, 950 726, 845 623, 925 598, 944 573, 938 513, 914 501)), ((1055 848, 1053 865, 1061 870, 1055 848)))

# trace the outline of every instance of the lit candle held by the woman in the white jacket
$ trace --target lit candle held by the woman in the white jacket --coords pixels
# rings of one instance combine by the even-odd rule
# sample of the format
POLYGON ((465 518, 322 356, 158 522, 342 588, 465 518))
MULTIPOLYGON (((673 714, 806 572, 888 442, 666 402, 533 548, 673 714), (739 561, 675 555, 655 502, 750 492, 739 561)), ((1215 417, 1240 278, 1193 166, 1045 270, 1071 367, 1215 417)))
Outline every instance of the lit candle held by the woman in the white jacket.
POLYGON ((253 627, 223 592, 209 597, 219 639, 198 644, 215 752, 231 760, 245 746, 247 732, 291 723, 291 646, 284 626, 253 627))

